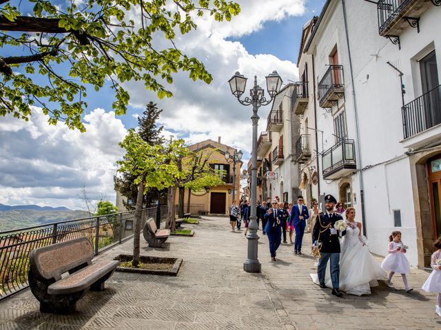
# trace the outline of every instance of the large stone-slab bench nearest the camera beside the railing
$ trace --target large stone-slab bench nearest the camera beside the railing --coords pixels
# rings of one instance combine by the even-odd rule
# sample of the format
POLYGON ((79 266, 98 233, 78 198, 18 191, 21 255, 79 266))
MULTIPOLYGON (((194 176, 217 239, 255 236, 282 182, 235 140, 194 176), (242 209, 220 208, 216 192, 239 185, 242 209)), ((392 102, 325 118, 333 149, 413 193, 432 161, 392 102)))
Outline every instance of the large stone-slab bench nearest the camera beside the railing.
POLYGON ((30 252, 29 286, 40 302, 40 311, 70 314, 86 292, 101 291, 119 261, 92 263, 94 252, 86 237, 30 252))

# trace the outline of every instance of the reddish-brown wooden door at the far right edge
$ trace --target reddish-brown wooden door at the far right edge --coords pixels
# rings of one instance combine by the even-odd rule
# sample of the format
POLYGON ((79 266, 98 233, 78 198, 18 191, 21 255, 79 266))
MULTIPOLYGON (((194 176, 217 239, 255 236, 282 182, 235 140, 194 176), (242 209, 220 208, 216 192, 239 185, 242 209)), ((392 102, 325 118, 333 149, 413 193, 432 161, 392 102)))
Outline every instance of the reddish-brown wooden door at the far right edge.
POLYGON ((441 236, 441 155, 429 159, 427 173, 429 173, 433 239, 435 240, 441 236))

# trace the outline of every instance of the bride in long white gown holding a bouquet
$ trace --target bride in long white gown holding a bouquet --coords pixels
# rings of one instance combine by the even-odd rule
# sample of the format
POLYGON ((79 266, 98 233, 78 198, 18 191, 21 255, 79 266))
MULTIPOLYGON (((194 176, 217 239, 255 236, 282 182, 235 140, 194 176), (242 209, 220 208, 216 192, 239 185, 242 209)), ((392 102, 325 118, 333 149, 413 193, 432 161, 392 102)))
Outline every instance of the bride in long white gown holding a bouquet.
MULTIPOLYGON (((369 252, 367 239, 360 232, 361 223, 354 221, 355 217, 356 210, 347 208, 346 234, 340 242, 340 290, 361 296, 371 294, 371 287, 378 285, 376 280, 385 279, 386 273, 369 252)), ((332 287, 328 269, 325 284, 332 287)))

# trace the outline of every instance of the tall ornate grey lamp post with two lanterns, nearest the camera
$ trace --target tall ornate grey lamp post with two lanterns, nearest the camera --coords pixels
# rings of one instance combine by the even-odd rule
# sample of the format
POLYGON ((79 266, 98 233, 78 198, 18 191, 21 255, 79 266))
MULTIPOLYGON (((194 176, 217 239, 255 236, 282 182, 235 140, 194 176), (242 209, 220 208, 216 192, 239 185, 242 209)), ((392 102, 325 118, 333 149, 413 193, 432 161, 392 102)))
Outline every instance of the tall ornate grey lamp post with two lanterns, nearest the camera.
POLYGON ((252 168, 251 168, 251 214, 249 217, 249 231, 247 235, 248 239, 248 250, 247 259, 243 263, 243 270, 248 273, 260 273, 261 265, 257 259, 257 243, 259 236, 257 236, 257 125, 259 121, 259 116, 257 114, 258 109, 261 106, 269 104, 274 96, 280 90, 282 85, 282 79, 276 71, 265 77, 267 80, 267 91, 269 94, 269 100, 264 96, 263 88, 257 85, 257 76, 254 76, 254 87, 250 89, 249 96, 245 100, 240 100, 245 91, 245 86, 247 85, 247 78, 242 76, 239 72, 236 72, 230 80, 228 80, 229 87, 232 89, 232 94, 237 98, 240 104, 252 105, 253 115, 251 117, 253 123, 253 137, 252 137, 252 168))

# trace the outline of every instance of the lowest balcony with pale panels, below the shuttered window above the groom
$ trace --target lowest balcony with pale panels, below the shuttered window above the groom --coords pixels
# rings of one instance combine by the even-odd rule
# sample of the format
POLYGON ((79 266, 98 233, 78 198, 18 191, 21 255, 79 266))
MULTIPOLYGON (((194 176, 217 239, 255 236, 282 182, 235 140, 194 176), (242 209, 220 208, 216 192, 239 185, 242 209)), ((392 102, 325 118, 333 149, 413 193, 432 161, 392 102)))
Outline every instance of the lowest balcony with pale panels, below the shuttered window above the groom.
POLYGON ((356 169, 356 155, 353 140, 340 140, 322 155, 324 179, 338 179, 353 173, 356 169))

